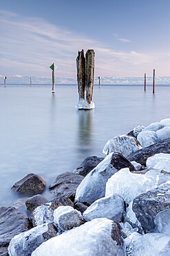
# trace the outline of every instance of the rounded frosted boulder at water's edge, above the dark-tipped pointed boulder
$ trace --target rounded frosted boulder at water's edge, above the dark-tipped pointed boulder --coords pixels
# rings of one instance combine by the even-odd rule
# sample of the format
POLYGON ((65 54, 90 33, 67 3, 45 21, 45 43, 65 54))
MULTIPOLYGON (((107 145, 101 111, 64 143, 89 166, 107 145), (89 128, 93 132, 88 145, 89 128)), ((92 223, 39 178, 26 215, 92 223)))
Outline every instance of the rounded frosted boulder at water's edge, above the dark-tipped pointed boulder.
POLYGON ((139 149, 141 149, 141 147, 137 145, 136 138, 127 135, 121 135, 111 138, 107 141, 105 147, 103 148, 103 154, 107 156, 111 152, 117 152, 127 157, 139 149))

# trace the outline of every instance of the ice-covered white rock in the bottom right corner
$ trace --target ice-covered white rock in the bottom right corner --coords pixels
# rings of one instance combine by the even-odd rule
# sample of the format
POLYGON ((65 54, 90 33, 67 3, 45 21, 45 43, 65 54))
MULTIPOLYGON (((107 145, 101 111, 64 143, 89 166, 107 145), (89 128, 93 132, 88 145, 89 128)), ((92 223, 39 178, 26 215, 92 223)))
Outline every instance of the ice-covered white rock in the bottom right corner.
POLYGON ((170 237, 160 233, 132 233, 125 239, 128 256, 168 256, 170 237))

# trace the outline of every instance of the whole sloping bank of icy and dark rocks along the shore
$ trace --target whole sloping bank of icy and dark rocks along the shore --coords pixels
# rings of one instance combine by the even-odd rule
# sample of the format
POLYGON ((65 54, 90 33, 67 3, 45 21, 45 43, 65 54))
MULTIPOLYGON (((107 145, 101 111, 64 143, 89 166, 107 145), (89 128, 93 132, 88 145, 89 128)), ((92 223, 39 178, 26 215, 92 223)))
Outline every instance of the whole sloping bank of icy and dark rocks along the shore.
POLYGON ((35 174, 17 182, 28 216, 0 208, 0 254, 170 255, 170 118, 111 138, 103 153, 57 176, 53 199, 35 174))

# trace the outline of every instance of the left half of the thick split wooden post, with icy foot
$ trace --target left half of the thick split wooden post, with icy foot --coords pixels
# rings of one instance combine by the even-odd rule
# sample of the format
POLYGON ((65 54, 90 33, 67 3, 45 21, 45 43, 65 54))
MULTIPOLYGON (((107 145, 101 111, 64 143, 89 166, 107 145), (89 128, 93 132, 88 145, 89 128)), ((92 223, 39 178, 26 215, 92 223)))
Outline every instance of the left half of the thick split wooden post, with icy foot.
POLYGON ((78 51, 78 56, 76 58, 76 68, 79 95, 77 107, 78 109, 82 109, 83 102, 85 101, 85 55, 83 50, 78 51))

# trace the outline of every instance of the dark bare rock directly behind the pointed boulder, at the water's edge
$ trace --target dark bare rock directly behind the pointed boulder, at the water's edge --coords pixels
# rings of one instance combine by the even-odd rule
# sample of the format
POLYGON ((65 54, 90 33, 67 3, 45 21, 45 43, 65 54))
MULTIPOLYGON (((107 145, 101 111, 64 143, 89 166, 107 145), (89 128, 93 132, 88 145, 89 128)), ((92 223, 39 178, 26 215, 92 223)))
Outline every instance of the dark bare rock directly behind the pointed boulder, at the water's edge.
POLYGON ((74 172, 76 174, 86 176, 90 171, 92 171, 98 165, 98 163, 103 161, 103 159, 104 159, 103 157, 99 158, 97 156, 89 156, 85 158, 85 160, 81 163, 81 165, 76 167, 76 170, 74 170, 74 172))

